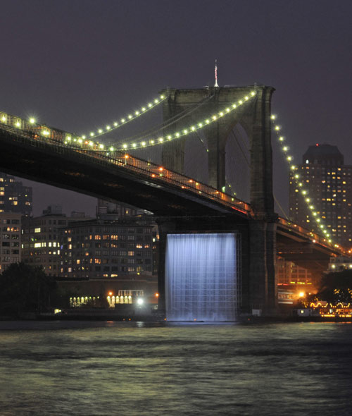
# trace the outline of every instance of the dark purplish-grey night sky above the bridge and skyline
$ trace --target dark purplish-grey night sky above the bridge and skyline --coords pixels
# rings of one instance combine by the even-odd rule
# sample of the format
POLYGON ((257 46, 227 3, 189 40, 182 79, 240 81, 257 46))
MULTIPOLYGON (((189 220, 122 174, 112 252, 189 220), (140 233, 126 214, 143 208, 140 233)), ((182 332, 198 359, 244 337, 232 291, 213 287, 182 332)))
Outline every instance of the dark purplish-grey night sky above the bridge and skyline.
MULTIPOLYGON (((327 142, 352 164, 351 12, 350 0, 1 1, 0 110, 85 133, 165 87, 213 84, 216 58, 220 86, 276 88, 295 161, 327 142)), ((286 206, 287 167, 273 148, 286 206)), ((94 198, 30 184, 34 215, 50 203, 95 213, 94 198)))

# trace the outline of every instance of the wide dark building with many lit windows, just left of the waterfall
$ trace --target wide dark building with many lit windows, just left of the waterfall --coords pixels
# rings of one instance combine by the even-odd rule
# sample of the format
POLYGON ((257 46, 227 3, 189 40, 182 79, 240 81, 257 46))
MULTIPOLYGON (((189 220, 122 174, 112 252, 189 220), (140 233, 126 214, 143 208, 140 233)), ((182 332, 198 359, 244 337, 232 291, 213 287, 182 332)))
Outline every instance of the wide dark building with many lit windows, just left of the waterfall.
POLYGON ((151 216, 99 214, 61 229, 63 277, 106 279, 153 274, 151 216))

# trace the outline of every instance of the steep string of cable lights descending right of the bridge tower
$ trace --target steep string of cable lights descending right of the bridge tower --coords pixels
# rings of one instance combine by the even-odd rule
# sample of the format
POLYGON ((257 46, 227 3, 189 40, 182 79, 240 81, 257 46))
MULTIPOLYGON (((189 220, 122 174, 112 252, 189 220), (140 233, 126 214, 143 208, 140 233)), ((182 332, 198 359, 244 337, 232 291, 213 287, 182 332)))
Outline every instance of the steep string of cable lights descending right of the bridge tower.
MULTIPOLYGON (((272 114, 270 117, 272 126, 274 128, 275 135, 277 136, 277 141, 282 147, 282 152, 284 154, 287 154, 289 151, 289 147, 287 145, 284 145, 285 137, 281 135, 281 126, 278 126, 276 123, 277 116, 272 114)), ((308 207, 308 212, 310 212, 310 218, 313 218, 315 222, 318 225, 318 228, 320 228, 320 231, 322 232, 322 237, 324 238, 327 243, 330 245, 334 245, 334 247, 341 249, 341 247, 338 244, 334 244, 331 239, 331 235, 329 234, 329 230, 327 229, 327 226, 322 223, 322 219, 320 216, 318 216, 318 212, 315 208, 315 206, 312 204, 312 199, 308 195, 308 190, 304 188, 304 183, 301 181, 301 176, 299 175, 298 167, 293 164, 293 157, 290 155, 287 155, 285 157, 287 164, 289 165, 289 170, 291 172, 291 177, 296 184, 296 192, 298 192, 298 195, 301 195, 303 197, 304 202, 306 202, 308 207)), ((312 232, 313 234, 313 232, 312 232)))

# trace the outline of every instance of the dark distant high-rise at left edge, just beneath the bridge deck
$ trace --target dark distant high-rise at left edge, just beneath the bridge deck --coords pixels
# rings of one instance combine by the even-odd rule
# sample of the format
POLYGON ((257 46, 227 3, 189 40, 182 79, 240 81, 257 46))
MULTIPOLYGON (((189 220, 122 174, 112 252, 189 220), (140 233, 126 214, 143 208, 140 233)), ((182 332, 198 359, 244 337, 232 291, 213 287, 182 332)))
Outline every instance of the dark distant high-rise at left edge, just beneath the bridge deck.
POLYGON ((32 215, 32 188, 15 181, 13 176, 0 173, 0 212, 32 215))

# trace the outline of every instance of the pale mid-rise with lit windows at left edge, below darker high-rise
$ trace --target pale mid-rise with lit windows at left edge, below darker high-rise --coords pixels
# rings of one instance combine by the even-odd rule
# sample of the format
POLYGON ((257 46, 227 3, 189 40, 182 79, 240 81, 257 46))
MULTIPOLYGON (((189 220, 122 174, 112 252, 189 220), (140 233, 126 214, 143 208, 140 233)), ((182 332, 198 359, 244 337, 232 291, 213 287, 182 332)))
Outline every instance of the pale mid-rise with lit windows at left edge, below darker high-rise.
POLYGON ((0 212, 0 273, 21 261, 21 214, 0 212))

